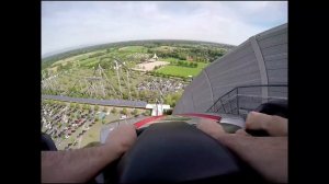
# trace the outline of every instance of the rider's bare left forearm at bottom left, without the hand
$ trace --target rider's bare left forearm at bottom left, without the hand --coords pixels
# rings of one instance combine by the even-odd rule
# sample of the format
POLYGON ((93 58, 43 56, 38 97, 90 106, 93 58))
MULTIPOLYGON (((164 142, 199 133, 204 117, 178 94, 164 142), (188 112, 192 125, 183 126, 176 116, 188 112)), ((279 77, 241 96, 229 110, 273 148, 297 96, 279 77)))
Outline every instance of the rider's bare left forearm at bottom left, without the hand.
POLYGON ((71 151, 43 151, 42 182, 88 182, 117 159, 121 152, 115 147, 105 146, 71 151))

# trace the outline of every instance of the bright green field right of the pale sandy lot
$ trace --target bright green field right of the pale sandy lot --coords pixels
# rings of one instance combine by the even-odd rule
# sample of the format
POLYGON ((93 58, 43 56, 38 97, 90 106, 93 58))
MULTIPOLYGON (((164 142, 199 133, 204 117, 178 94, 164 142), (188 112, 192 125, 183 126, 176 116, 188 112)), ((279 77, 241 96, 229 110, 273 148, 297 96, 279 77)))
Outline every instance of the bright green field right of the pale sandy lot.
POLYGON ((163 74, 172 74, 177 77, 189 77, 189 76, 197 76, 203 68, 205 68, 208 64, 197 62, 197 68, 189 68, 181 66, 166 66, 157 70, 157 72, 163 74))

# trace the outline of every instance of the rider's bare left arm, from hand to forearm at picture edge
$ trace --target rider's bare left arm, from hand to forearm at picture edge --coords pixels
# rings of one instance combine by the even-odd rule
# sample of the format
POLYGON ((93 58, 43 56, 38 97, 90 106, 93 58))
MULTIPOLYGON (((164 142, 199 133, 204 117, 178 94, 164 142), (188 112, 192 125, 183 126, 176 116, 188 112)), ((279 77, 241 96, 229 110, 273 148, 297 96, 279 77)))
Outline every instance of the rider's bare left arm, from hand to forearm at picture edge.
POLYGON ((122 124, 111 131, 105 145, 71 151, 42 151, 42 182, 88 182, 128 150, 136 138, 135 127, 122 124))

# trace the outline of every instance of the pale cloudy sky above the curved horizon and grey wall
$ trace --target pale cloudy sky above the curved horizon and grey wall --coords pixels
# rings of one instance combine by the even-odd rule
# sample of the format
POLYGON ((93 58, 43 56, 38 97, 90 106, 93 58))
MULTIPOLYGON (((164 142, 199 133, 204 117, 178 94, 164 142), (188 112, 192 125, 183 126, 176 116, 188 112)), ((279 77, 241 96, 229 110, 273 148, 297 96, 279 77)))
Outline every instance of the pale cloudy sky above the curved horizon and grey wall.
POLYGON ((43 1, 42 55, 140 39, 239 45, 284 23, 287 1, 43 1))

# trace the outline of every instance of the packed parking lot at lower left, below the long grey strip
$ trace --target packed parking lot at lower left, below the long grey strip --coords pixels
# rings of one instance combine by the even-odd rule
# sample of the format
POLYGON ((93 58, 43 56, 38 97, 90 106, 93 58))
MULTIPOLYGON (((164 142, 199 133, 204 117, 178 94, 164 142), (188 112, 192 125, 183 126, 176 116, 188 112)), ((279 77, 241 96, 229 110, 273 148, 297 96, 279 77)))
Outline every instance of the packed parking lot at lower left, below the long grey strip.
MULTIPOLYGON (((79 107, 69 103, 46 103, 42 105, 42 131, 49 135, 58 150, 82 148, 86 145, 100 140, 100 130, 103 125, 120 119, 122 108, 94 106, 79 107)), ((127 108, 128 112, 133 110, 127 108)), ((141 111, 140 111, 141 113, 141 111)), ((128 115, 127 116, 133 116, 128 115)))

